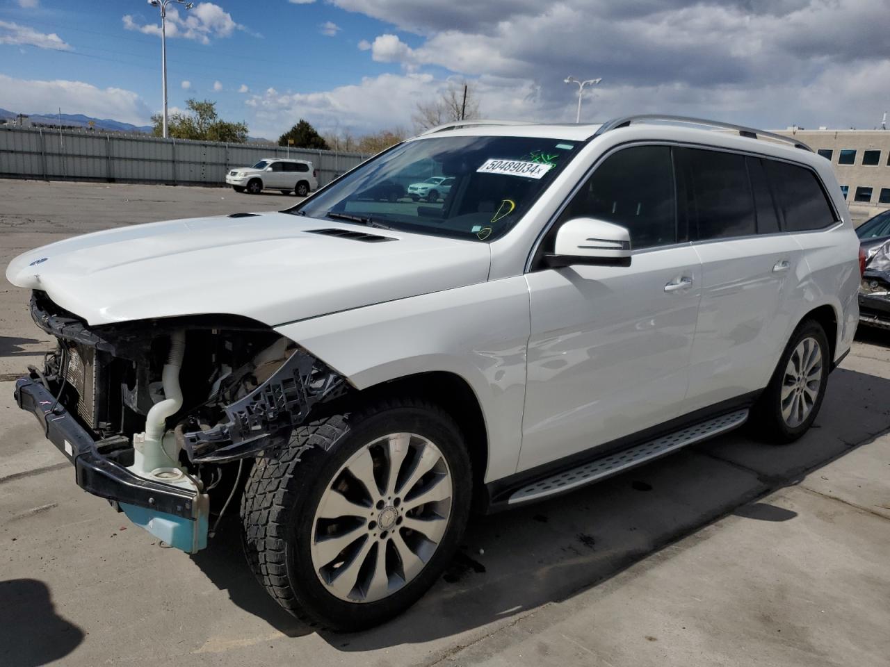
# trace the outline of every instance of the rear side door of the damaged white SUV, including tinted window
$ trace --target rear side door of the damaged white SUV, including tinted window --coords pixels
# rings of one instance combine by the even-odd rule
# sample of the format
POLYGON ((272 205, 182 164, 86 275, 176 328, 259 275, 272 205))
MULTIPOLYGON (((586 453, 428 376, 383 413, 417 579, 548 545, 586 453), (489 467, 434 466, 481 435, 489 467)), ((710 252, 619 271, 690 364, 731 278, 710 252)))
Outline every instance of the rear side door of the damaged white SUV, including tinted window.
POLYGON ((781 230, 765 160, 684 148, 676 164, 702 271, 686 400, 692 411, 769 382, 805 267, 800 245, 781 230))

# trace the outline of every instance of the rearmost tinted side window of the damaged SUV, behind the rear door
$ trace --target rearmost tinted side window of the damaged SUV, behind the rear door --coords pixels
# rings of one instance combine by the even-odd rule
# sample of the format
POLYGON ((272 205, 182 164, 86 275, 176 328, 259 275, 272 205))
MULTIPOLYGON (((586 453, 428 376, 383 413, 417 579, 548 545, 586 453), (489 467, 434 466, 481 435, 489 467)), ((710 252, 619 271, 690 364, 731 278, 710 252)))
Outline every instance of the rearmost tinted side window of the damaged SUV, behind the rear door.
POLYGON ((787 162, 765 160, 765 165, 785 218, 785 231, 822 229, 834 224, 835 214, 816 174, 787 162))

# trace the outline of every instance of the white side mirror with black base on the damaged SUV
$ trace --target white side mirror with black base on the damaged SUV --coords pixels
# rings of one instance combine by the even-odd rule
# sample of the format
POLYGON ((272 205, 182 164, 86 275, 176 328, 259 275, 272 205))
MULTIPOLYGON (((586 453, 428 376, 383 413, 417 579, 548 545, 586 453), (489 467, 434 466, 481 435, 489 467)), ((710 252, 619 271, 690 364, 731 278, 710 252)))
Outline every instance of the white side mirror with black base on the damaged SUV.
POLYGON ((556 232, 554 253, 544 256, 551 269, 575 264, 630 266, 630 232, 595 218, 566 221, 556 232))

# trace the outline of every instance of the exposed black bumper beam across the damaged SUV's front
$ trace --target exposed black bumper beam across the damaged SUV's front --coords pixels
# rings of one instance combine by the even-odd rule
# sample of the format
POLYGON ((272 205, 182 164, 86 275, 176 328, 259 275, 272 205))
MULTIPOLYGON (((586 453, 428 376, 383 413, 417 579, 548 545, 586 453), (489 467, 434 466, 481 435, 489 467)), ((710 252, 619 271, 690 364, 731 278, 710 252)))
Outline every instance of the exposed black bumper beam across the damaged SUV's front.
POLYGON ((177 517, 195 518, 195 496, 187 489, 141 478, 109 461, 99 453, 92 436, 61 403, 55 412, 47 414, 48 406, 52 406, 55 399, 39 381, 20 378, 15 382, 14 396, 18 406, 40 422, 46 438, 74 464, 77 486, 112 502, 128 502, 177 517))

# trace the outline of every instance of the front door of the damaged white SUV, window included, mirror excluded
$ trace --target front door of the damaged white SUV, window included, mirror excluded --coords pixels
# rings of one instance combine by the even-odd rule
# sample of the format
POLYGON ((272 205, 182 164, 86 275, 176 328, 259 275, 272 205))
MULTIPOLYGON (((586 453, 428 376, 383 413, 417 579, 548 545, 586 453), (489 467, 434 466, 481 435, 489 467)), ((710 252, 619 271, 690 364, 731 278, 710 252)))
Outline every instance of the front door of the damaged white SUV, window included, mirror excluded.
POLYGON ((678 232, 671 149, 603 160, 560 223, 593 217, 630 230, 629 267, 527 274, 531 336, 519 470, 679 416, 698 317, 698 255, 678 232))

